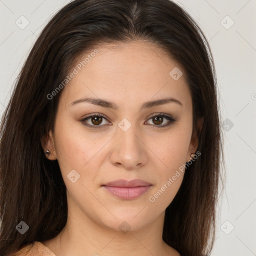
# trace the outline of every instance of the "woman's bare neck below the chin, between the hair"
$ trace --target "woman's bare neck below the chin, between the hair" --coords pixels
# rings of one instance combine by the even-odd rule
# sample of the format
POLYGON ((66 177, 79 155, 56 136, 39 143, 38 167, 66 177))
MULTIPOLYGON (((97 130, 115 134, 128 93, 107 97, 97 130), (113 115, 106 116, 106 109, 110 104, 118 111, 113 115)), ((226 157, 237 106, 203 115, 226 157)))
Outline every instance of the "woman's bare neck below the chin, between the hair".
POLYGON ((176 250, 162 240, 164 213, 165 211, 146 226, 132 228, 123 223, 126 230, 115 230, 103 223, 96 223, 76 209, 75 212, 68 212, 62 231, 53 239, 42 243, 56 256, 179 256, 176 250))

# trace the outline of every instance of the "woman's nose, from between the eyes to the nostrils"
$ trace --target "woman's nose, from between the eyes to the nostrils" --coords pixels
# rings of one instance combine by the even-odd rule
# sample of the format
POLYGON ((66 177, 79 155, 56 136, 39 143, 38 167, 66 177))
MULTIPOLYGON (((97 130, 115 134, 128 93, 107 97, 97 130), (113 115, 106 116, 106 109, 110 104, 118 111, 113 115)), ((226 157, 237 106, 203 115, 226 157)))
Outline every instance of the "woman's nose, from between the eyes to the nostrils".
POLYGON ((111 144, 110 162, 128 170, 145 165, 148 159, 147 147, 139 131, 135 130, 135 125, 126 131, 117 127, 116 132, 111 144))

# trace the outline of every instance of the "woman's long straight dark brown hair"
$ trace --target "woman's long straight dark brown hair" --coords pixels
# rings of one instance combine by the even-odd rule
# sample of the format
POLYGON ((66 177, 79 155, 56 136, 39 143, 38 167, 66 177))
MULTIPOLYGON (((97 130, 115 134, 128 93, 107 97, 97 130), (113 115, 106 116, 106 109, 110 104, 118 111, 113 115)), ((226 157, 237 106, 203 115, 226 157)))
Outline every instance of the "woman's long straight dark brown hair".
POLYGON ((95 45, 142 39, 161 47, 185 70, 193 129, 201 155, 187 166, 166 208, 163 240, 181 255, 208 255, 223 154, 217 86, 205 36, 170 0, 74 0, 47 23, 21 71, 0 126, 0 251, 7 255, 32 241, 56 236, 67 219, 66 187, 58 161, 49 161, 40 138, 54 129, 59 93, 74 60, 95 45), (24 221, 29 229, 15 228, 24 221))

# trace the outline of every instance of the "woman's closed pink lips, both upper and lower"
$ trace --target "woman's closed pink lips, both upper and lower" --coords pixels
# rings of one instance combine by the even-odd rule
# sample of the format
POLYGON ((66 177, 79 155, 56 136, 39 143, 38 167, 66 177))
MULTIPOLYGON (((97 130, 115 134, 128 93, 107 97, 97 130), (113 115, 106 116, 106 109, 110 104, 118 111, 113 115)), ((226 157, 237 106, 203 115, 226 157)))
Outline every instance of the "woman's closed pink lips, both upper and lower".
POLYGON ((104 184, 103 188, 121 199, 131 200, 145 193, 151 185, 141 179, 116 179, 104 184))

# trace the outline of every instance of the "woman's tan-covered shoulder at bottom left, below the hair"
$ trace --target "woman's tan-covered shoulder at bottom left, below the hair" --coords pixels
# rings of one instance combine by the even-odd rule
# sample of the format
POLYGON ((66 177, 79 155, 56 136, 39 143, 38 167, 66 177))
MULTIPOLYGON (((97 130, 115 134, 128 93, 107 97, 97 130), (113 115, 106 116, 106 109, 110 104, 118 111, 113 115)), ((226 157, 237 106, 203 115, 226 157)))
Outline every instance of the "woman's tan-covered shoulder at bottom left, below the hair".
POLYGON ((34 241, 23 245, 18 251, 9 256, 55 256, 55 254, 41 242, 34 241))

